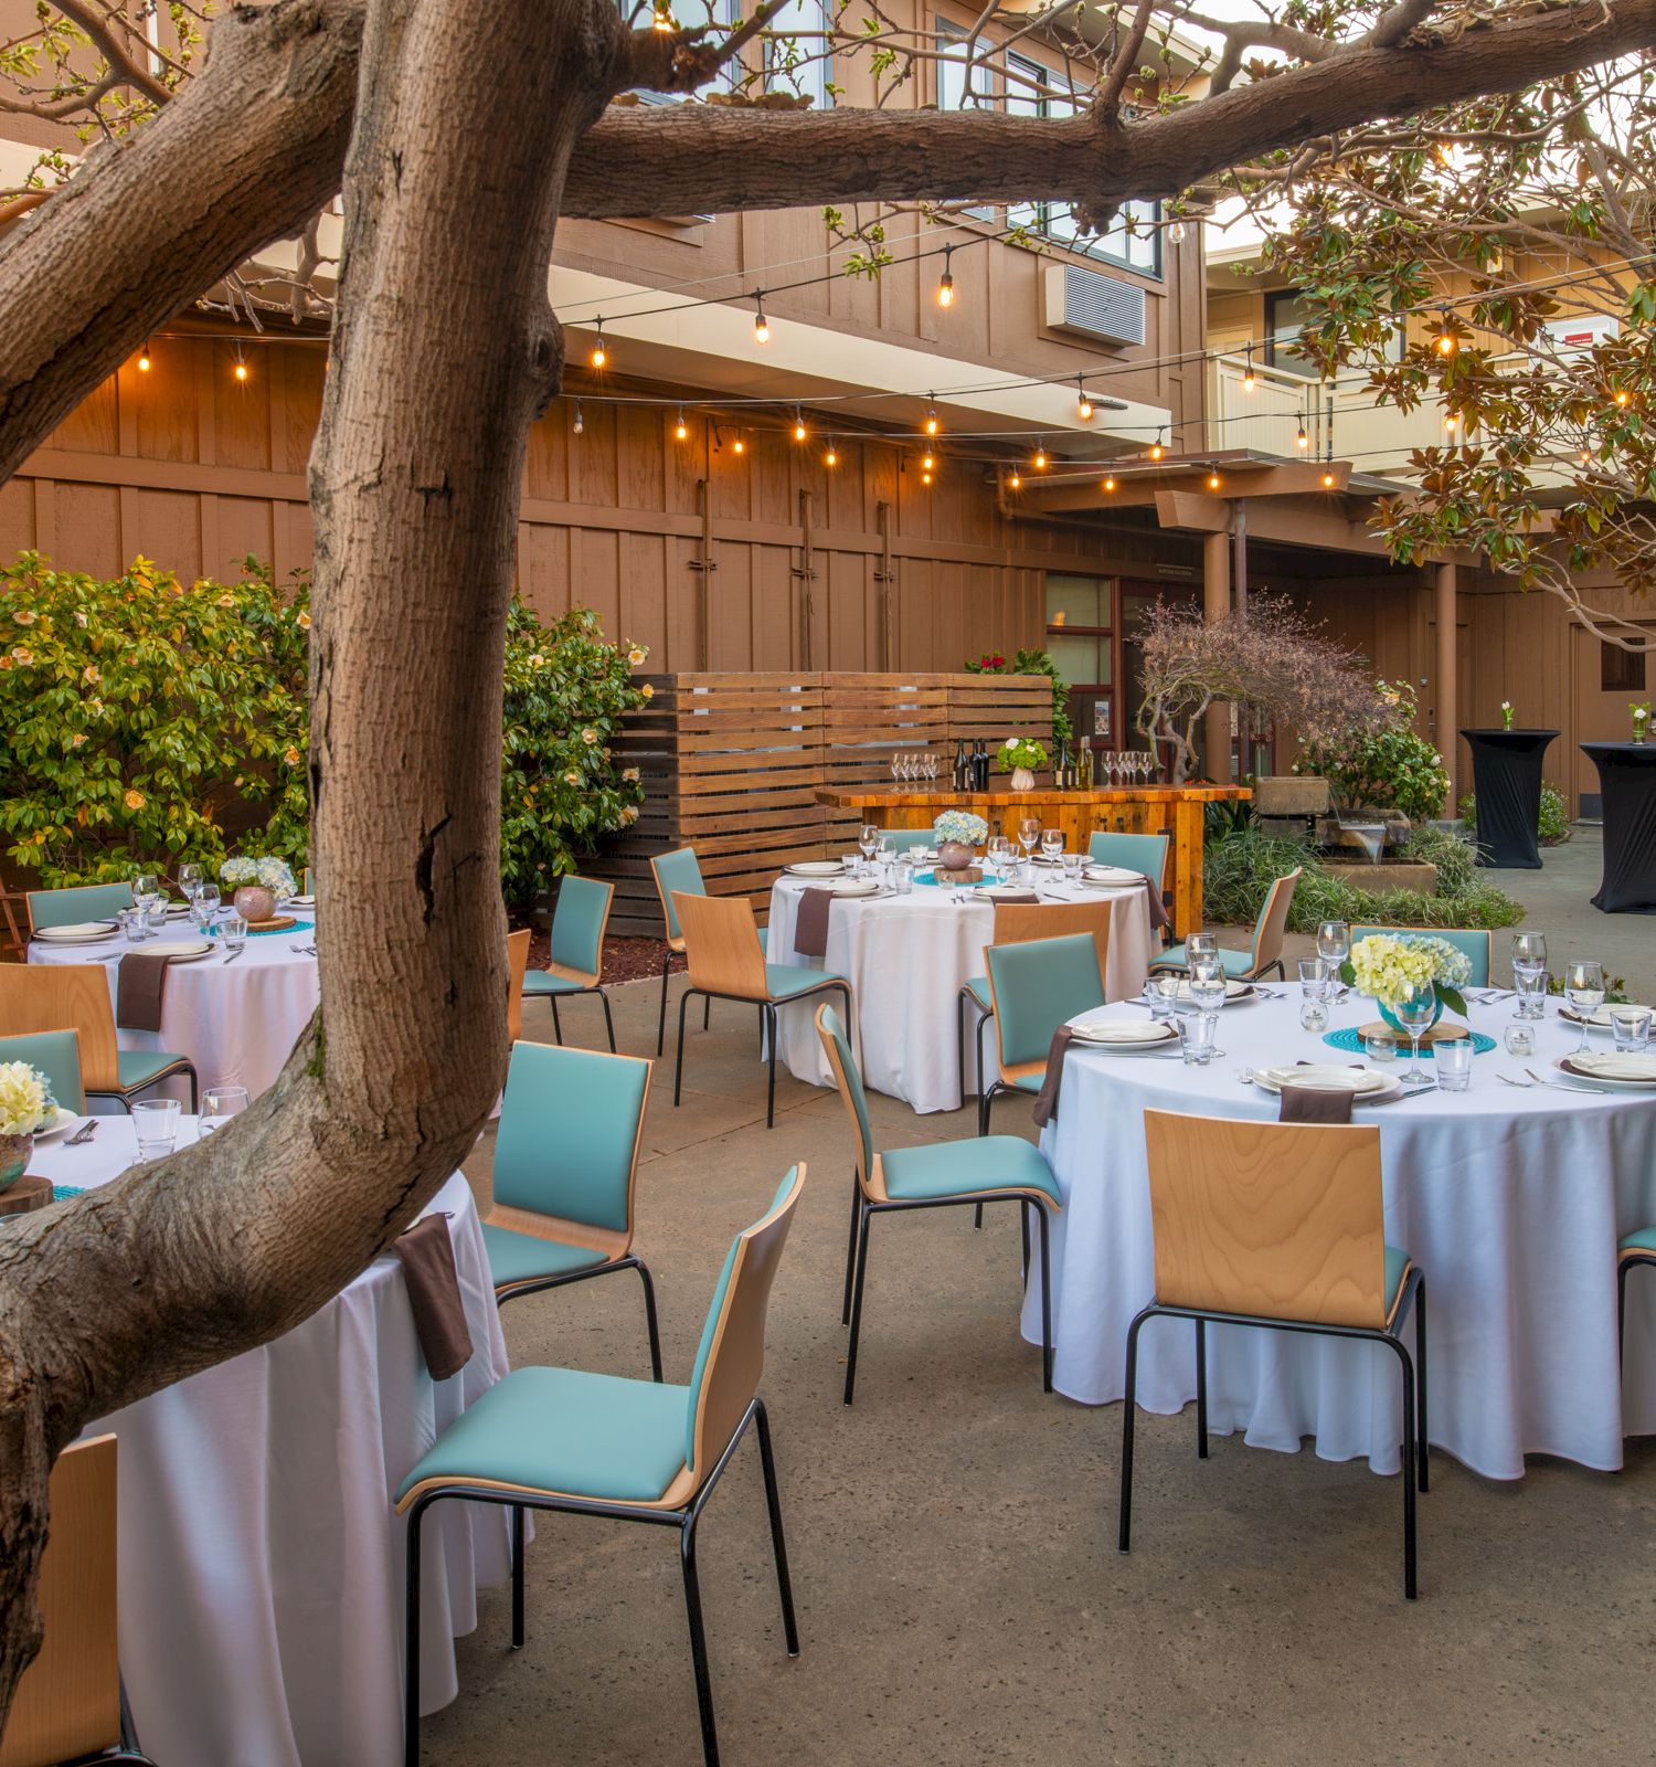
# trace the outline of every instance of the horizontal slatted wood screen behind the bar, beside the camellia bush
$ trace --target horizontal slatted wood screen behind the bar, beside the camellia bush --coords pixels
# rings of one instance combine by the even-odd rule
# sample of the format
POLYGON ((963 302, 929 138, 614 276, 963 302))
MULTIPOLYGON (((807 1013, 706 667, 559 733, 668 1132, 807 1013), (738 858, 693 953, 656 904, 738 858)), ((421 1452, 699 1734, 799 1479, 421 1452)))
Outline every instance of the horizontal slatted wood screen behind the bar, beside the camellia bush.
POLYGON ((621 765, 637 767, 637 823, 584 869, 616 885, 609 929, 659 937, 650 855, 694 846, 715 896, 763 914, 777 871, 847 852, 856 816, 824 809, 819 788, 892 785, 892 756, 932 753, 939 785, 959 739, 1050 744, 1052 691, 1027 675, 651 675, 648 710, 629 717, 621 765))

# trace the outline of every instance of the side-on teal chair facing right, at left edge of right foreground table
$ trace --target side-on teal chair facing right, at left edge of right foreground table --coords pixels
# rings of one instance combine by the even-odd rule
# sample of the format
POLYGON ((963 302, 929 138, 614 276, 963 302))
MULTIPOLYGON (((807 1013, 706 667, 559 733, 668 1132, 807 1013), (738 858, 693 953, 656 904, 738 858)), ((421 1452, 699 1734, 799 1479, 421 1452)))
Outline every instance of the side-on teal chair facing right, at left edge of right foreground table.
MULTIPOLYGON (((1080 944, 1080 940, 1077 940, 1080 944)), ((856 1385, 856 1346, 863 1323, 863 1285, 869 1278, 869 1225, 899 1209, 955 1209, 966 1203, 1017 1203, 1024 1228, 1024 1279, 1029 1279, 1029 1210, 1040 1223, 1042 1251, 1042 1391, 1052 1391, 1052 1285, 1049 1219, 1063 1207, 1052 1168, 1040 1149, 1015 1134, 989 1134, 964 1141, 927 1141, 923 1147, 874 1147, 869 1094, 851 1055, 851 1039, 832 1005, 819 1005, 817 1035, 833 1069, 840 1101, 851 1117, 856 1147, 851 1189, 851 1242, 846 1248, 846 1295, 840 1323, 851 1327, 846 1348, 846 1405, 856 1385)))

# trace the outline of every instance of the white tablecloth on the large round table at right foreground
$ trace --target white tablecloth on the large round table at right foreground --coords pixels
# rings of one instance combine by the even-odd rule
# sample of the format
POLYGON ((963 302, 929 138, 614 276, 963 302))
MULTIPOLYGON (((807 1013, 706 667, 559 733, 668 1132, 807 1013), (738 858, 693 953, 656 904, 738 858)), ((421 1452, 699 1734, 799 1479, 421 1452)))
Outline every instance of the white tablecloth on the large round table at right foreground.
MULTIPOLYGON (((1065 1198, 1052 1316, 1056 1385, 1070 1398, 1121 1398, 1126 1327, 1155 1288, 1144 1110, 1275 1119, 1276 1097, 1241 1085, 1238 1067, 1358 1060, 1299 1028, 1298 995, 1227 1007, 1227 1053, 1206 1069, 1072 1051, 1042 1134, 1065 1198)), ((1374 1018, 1356 995, 1333 1014, 1335 1027, 1374 1018)), ((1615 1361, 1615 1244, 1656 1223, 1656 1094, 1515 1090, 1495 1074, 1547 1074, 1580 1032, 1548 1018, 1538 1053, 1515 1060, 1499 1046, 1509 1004, 1471 1020, 1497 1039, 1476 1057, 1471 1092, 1356 1111, 1381 1126, 1386 1239, 1426 1281, 1432 1442, 1492 1479, 1522 1477, 1525 1454, 1615 1468, 1624 1433, 1656 1431, 1656 1283, 1628 1285, 1624 1380, 1615 1361)), ((1024 1336, 1040 1343, 1038 1272, 1024 1336)), ((1139 1403, 1178 1412, 1193 1398, 1193 1329, 1151 1320, 1139 1403)), ((1328 1460, 1398 1465, 1396 1361, 1374 1345, 1209 1327, 1208 1407, 1215 1430, 1252 1444, 1292 1451, 1314 1435, 1328 1460)))

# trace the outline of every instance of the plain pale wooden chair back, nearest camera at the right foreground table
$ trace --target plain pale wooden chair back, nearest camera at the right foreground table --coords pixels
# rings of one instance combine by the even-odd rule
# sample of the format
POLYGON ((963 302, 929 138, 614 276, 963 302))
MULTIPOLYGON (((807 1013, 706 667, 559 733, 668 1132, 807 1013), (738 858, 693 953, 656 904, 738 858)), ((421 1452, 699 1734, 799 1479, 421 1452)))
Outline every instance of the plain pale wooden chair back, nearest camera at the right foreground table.
POLYGON ((1386 1325, 1381 1131, 1144 1113, 1162 1306, 1386 1325))

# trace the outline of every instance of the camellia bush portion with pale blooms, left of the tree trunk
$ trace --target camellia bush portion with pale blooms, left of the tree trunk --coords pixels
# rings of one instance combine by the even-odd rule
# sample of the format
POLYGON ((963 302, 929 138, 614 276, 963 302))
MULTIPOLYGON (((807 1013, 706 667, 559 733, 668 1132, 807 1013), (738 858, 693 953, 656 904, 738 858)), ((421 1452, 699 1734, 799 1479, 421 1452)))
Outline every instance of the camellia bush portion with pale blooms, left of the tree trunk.
POLYGON ((305 862, 305 583, 258 560, 180 583, 134 558, 99 581, 21 553, 0 574, 0 838, 56 889, 217 866, 238 845, 305 862), (263 820, 260 820, 260 816, 263 820))

